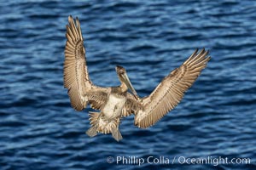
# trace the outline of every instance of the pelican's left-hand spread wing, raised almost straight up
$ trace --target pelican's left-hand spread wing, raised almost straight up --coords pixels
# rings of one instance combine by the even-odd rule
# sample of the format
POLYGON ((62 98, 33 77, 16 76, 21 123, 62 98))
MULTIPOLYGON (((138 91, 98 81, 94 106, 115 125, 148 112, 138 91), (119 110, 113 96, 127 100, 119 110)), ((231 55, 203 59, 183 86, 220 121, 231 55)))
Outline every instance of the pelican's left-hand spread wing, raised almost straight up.
POLYGON ((78 18, 74 23, 72 16, 68 17, 66 37, 64 88, 68 88, 71 105, 76 111, 82 111, 88 103, 94 108, 101 108, 110 88, 100 88, 90 82, 78 18))

